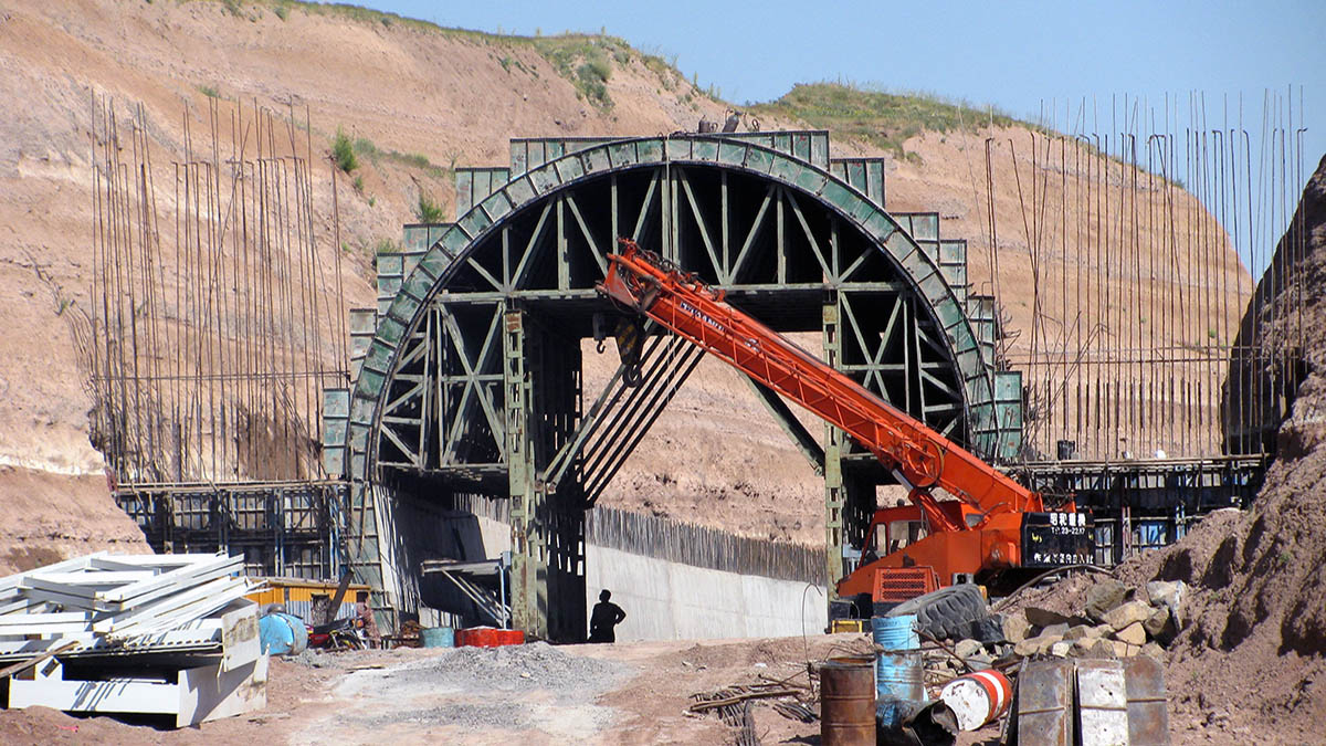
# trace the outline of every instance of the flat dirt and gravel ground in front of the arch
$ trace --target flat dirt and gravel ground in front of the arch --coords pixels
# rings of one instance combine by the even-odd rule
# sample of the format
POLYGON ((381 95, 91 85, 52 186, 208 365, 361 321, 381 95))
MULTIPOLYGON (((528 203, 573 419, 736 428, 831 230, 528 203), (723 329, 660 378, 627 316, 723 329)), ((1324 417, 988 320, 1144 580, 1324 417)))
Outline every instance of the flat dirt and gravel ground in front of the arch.
MULTIPOLYGON (((863 634, 505 649, 302 653, 273 660, 260 713, 164 730, 45 708, 0 711, 3 743, 728 743, 736 730, 687 713, 691 694, 788 680, 806 662, 866 650, 863 634)), ((761 743, 819 743, 819 723, 753 708, 761 743)), ((961 745, 998 735, 994 726, 961 745)))

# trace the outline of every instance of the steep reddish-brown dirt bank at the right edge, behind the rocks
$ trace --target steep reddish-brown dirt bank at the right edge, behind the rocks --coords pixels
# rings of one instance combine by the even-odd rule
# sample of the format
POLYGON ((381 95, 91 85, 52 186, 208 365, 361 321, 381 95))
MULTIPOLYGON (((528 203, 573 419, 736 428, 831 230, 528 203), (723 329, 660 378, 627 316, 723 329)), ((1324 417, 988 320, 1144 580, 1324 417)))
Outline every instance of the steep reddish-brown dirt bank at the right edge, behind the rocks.
MULTIPOLYGON (((1184 627, 1166 681, 1177 743, 1318 743, 1326 717, 1326 158, 1309 181, 1292 231, 1277 246, 1249 311, 1257 337, 1284 335, 1306 288, 1306 378, 1288 398, 1276 461, 1246 511, 1216 511, 1175 546, 1140 555, 1114 575, 1189 584, 1184 627), (1301 231, 1301 232, 1299 232, 1301 231), (1302 240, 1299 240, 1302 236, 1302 240), (1278 276, 1284 272, 1284 276, 1278 276), (1301 283, 1298 281, 1301 280, 1301 283)), ((1078 576, 1018 603, 1079 612, 1095 577, 1078 576)))

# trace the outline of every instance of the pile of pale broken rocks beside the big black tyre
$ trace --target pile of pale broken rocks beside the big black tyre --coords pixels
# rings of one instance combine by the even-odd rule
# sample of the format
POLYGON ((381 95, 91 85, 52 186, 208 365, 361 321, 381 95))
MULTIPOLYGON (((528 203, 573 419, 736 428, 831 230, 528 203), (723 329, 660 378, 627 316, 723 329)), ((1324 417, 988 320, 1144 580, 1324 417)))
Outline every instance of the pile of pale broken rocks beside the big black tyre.
POLYGON ((1037 607, 1004 617, 1004 637, 1021 657, 1164 657, 1183 627, 1183 581, 1130 588, 1118 580, 1093 585, 1078 616, 1037 607))

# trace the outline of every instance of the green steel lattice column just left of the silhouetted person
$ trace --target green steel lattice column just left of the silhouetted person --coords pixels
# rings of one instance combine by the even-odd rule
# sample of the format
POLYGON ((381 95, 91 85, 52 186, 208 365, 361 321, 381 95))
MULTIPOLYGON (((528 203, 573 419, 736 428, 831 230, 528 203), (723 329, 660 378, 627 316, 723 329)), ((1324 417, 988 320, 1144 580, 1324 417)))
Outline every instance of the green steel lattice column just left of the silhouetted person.
POLYGON ((526 634, 548 637, 548 555, 534 465, 533 396, 526 364, 525 315, 503 315, 503 392, 507 419, 507 474, 511 495, 512 621, 526 634))

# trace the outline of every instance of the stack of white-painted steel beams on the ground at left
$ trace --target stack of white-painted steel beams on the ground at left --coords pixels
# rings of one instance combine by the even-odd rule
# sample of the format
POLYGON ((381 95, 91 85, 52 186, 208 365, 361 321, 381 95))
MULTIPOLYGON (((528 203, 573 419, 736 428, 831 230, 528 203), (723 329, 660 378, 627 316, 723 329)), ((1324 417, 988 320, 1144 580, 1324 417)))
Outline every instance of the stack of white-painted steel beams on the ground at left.
POLYGON ((243 556, 98 552, 0 579, 9 709, 175 717, 260 709, 268 658, 243 556), (68 676, 66 676, 68 672, 68 676))

